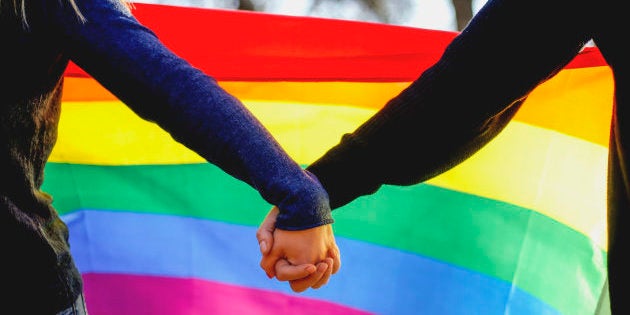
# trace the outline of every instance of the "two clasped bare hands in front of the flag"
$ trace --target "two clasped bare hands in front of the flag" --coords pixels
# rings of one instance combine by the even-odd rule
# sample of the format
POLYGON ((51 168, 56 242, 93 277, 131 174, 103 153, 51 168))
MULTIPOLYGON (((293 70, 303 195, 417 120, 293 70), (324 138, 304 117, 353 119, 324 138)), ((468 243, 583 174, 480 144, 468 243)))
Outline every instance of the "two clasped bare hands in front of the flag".
POLYGON ((318 289, 341 267, 332 225, 301 231, 276 229, 278 208, 273 207, 256 231, 263 255, 260 267, 267 277, 289 281, 294 292, 318 289))

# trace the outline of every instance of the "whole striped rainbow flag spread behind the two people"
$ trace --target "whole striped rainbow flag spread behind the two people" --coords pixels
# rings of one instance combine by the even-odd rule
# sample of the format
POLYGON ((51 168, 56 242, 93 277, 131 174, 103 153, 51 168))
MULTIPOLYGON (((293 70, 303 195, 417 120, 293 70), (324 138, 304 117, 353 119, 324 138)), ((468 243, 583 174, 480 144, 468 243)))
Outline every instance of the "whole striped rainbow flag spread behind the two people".
MULTIPOLYGON (((303 166, 456 35, 165 5, 133 12, 243 100, 303 166)), ((258 265, 255 230, 271 205, 254 189, 135 116, 80 68, 65 80, 43 190, 70 227, 91 315, 580 315, 607 299, 613 84, 596 48, 537 88, 460 166, 333 212, 343 266, 327 286, 300 294, 258 265)))

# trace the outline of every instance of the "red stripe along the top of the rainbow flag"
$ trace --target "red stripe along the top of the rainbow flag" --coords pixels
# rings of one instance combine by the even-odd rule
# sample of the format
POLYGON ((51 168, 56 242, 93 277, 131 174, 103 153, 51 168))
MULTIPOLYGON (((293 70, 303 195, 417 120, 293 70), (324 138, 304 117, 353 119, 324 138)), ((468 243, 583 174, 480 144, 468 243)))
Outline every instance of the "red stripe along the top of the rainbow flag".
MULTIPOLYGON (((134 15, 180 56, 218 80, 412 81, 455 32, 378 23, 157 4, 134 15), (164 23, 168 21, 168 23, 164 23)), ((570 67, 604 65, 596 48, 570 67)), ((70 76, 86 76, 75 65, 70 76)))

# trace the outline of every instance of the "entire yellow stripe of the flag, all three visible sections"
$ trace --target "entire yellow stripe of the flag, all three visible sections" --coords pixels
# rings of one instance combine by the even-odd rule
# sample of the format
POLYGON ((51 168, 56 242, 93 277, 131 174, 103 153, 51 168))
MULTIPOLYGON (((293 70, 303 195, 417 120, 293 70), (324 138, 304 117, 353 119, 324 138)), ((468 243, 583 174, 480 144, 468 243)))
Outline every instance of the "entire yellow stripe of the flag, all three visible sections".
MULTIPOLYGON (((308 164, 374 110, 246 101, 287 152, 308 164)), ((66 102, 51 161, 180 164, 203 160, 120 102, 66 102)), ((515 121, 478 154, 429 183, 539 211, 603 249, 607 148, 515 121)))

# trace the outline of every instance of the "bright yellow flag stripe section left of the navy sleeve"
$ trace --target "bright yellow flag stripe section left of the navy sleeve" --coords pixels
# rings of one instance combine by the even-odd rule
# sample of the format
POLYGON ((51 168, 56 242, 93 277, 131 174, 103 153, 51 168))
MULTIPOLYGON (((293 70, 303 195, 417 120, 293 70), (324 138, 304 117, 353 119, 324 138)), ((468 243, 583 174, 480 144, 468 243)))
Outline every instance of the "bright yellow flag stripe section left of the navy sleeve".
POLYGON ((202 161, 119 101, 63 103, 59 136, 49 160, 105 165, 202 161))

